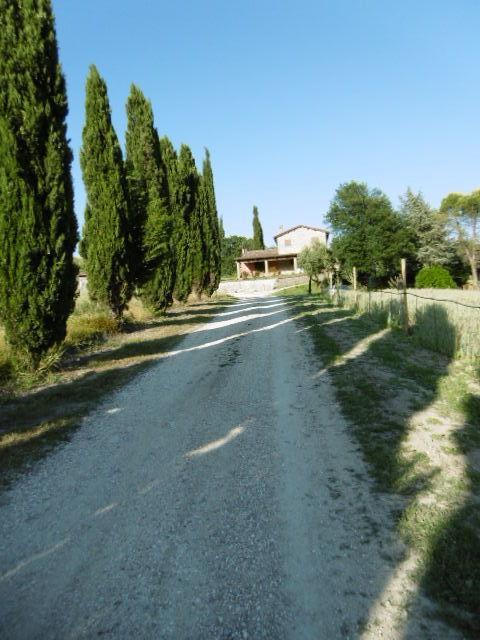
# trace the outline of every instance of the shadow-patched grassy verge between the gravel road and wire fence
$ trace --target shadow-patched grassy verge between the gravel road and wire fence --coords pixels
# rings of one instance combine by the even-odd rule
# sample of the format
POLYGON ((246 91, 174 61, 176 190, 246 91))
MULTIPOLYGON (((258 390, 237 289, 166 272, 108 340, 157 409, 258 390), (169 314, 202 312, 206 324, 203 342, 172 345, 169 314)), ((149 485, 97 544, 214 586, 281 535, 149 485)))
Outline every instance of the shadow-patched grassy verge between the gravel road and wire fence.
MULTIPOLYGON (((283 295, 304 310, 321 303, 305 293, 283 295)), ((479 363, 421 349, 326 302, 325 313, 302 322, 378 490, 399 496, 396 525, 418 555, 419 585, 451 623, 479 637, 479 363)))

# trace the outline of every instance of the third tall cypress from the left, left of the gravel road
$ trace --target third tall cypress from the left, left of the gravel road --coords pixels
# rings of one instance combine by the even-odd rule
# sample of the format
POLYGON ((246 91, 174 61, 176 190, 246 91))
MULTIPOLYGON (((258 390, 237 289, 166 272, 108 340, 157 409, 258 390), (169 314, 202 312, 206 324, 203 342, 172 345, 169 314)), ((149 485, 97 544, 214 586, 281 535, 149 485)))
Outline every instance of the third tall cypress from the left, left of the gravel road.
POLYGON ((127 101, 127 117, 126 170, 136 281, 146 304, 164 310, 172 301, 173 283, 168 179, 151 104, 135 85, 127 101))

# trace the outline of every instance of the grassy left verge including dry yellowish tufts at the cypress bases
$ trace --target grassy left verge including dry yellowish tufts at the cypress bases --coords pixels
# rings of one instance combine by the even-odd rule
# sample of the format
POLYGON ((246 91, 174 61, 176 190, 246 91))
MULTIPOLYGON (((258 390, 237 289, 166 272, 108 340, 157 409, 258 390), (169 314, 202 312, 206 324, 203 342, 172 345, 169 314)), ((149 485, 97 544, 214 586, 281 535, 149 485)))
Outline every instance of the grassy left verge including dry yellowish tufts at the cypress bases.
POLYGON ((69 440, 101 400, 145 371, 228 300, 173 307, 155 317, 134 301, 121 332, 109 315, 81 301, 69 320, 62 357, 42 375, 16 373, 0 348, 0 486, 69 440), (0 383, 1 384, 1 383, 0 383))

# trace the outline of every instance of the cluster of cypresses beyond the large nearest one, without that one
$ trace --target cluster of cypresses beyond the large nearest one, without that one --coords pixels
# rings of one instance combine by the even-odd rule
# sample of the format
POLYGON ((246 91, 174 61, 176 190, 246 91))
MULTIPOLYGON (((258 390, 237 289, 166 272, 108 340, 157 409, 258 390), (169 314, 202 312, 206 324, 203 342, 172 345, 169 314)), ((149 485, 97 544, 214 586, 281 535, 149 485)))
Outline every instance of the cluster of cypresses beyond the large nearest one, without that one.
POLYGON ((120 318, 136 291, 152 309, 211 294, 220 280, 220 229, 210 155, 160 139, 150 102, 132 85, 125 161, 107 87, 95 66, 86 85, 81 166, 87 192, 81 253, 90 296, 120 318))

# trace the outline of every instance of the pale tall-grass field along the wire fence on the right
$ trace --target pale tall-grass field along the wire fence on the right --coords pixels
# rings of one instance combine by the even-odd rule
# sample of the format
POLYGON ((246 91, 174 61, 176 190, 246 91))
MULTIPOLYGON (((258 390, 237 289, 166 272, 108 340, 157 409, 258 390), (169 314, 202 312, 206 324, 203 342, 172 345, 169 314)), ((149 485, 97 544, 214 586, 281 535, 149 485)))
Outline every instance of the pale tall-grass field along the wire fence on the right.
POLYGON ((421 346, 458 358, 480 358, 480 293, 445 289, 341 290, 337 303, 389 327, 408 325, 421 346))

